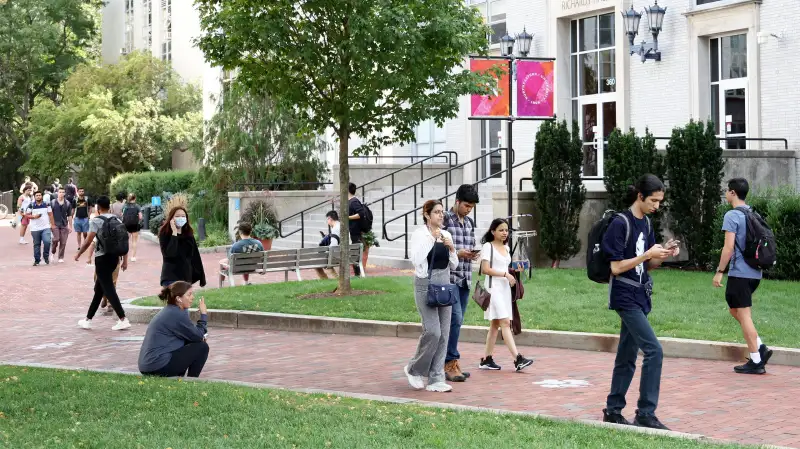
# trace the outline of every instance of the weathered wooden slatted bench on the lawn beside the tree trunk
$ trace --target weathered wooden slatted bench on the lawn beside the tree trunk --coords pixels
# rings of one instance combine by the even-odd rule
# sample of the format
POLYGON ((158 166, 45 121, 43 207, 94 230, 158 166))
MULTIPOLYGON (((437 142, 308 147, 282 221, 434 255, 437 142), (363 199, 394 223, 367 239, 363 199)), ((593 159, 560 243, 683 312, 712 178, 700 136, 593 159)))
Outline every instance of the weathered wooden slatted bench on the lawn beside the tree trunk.
MULTIPOLYGON (((289 272, 294 271, 297 280, 302 281, 300 270, 315 268, 336 268, 339 266, 341 251, 338 246, 319 246, 316 248, 277 249, 254 253, 235 253, 219 264, 219 286, 228 278, 228 285, 235 286, 234 276, 243 274, 265 274, 284 272, 284 280, 289 280, 289 272)), ((363 243, 350 246, 350 263, 358 265, 361 277, 364 277, 364 265, 361 263, 364 253, 363 243)))

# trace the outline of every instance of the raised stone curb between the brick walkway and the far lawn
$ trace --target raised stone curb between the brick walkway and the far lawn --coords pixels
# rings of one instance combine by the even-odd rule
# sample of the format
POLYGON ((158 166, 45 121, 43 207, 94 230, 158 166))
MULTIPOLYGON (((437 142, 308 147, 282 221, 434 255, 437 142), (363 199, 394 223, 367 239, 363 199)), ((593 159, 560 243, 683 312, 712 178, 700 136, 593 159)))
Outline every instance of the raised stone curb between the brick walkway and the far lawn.
MULTIPOLYGON (((130 301, 133 301, 131 299, 130 301)), ((161 307, 147 307, 127 304, 128 319, 133 323, 149 323, 161 307)), ((199 319, 196 310, 192 319, 199 319)), ((419 338, 422 331, 420 323, 399 323, 395 321, 372 321, 352 318, 294 315, 271 312, 249 312, 242 310, 210 310, 210 327, 236 329, 264 329, 290 332, 309 332, 320 334, 345 334, 370 337, 419 338)), ((463 326, 459 341, 484 343, 488 328, 482 326, 463 326)), ((517 345, 539 346, 545 348, 576 349, 582 351, 616 352, 619 336, 588 332, 566 332, 550 330, 523 330, 514 337, 517 345)), ((738 343, 718 341, 688 340, 683 338, 659 337, 664 356, 728 362, 743 361, 747 346, 738 343)), ((774 352, 770 363, 773 365, 800 366, 800 349, 771 348, 774 352)))

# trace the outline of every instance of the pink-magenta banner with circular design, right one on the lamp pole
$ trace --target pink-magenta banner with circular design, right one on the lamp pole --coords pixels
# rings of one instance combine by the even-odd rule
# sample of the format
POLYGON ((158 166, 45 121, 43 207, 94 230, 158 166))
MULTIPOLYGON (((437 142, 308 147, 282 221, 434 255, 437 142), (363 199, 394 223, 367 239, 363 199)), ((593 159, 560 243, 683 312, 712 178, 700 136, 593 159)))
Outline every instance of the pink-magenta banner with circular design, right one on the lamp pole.
POLYGON ((554 68, 554 61, 517 61, 517 117, 553 116, 554 68))

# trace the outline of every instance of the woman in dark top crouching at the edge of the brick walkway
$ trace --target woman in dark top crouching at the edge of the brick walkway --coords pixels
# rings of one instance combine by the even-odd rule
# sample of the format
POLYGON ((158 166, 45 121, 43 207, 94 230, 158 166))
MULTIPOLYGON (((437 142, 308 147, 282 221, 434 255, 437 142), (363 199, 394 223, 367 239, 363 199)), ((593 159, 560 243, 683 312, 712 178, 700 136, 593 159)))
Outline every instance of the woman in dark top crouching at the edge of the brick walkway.
POLYGON ((208 310, 200 298, 200 319, 189 319, 187 309, 194 302, 192 284, 178 281, 164 287, 158 295, 167 305, 161 309, 144 335, 139 351, 139 371, 153 376, 200 377, 208 359, 205 341, 208 310))

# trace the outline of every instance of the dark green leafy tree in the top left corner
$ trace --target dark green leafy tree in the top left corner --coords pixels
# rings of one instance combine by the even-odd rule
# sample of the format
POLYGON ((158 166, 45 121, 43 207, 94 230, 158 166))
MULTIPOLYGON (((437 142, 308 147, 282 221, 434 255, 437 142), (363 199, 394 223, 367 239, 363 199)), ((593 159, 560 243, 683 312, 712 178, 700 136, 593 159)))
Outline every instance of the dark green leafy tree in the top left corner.
MULTIPOLYGON (((0 166, 14 171, 26 157, 28 123, 37 104, 58 103, 77 65, 99 54, 102 0, 0 2, 0 166)), ((4 173, 5 174, 5 173, 4 173)), ((3 177, 19 186, 21 174, 3 177)))

